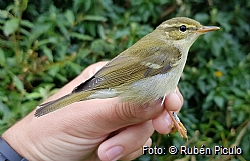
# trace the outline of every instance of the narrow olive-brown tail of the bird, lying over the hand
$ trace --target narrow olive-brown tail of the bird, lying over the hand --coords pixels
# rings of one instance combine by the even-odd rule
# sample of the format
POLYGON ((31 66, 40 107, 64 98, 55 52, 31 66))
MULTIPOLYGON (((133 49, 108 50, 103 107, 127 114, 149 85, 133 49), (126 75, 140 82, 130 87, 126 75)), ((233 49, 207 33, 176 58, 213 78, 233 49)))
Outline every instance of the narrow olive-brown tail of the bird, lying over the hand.
POLYGON ((76 93, 70 93, 54 101, 50 101, 39 105, 35 112, 36 117, 43 116, 60 108, 63 108, 73 102, 87 100, 87 97, 91 94, 89 91, 82 91, 76 93))

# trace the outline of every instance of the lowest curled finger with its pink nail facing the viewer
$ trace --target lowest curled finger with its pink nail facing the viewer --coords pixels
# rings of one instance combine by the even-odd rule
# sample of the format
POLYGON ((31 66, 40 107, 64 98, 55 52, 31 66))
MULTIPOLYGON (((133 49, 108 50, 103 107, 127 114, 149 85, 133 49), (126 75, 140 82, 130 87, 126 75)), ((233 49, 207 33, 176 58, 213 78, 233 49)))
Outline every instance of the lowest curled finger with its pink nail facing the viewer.
POLYGON ((151 121, 127 127, 119 134, 104 141, 98 148, 98 156, 101 160, 118 160, 129 154, 131 157, 138 156, 139 150, 153 132, 151 121))

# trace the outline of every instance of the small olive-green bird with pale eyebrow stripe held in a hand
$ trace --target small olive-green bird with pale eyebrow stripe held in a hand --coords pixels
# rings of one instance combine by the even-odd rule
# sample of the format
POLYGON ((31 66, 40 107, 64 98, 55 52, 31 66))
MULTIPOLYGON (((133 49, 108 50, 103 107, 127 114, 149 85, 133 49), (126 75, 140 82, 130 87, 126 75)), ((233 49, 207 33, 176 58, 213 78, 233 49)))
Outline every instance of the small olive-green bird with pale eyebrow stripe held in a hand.
MULTIPOLYGON (((177 88, 185 66, 188 50, 202 34, 218 30, 199 22, 177 17, 160 24, 133 46, 120 53, 72 93, 38 106, 40 117, 71 103, 90 99, 119 97, 138 105, 164 100, 177 88)), ((182 126, 177 116, 170 114, 175 127, 182 126), (179 125, 179 126, 178 126, 179 125)), ((181 135, 185 137, 185 128, 181 135)))

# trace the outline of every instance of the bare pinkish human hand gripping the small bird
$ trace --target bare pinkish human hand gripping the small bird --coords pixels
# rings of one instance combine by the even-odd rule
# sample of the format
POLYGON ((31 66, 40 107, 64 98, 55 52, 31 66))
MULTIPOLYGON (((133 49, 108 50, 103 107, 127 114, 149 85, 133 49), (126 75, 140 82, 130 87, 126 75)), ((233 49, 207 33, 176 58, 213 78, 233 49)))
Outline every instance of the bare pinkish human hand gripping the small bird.
MULTIPOLYGON (((89 66, 45 102, 70 93, 106 63, 89 66)), ((171 131, 166 109, 178 112, 182 105, 178 89, 162 106, 160 100, 138 107, 118 98, 76 102, 39 118, 32 111, 2 137, 28 160, 132 160, 151 145, 154 130, 171 131)))

